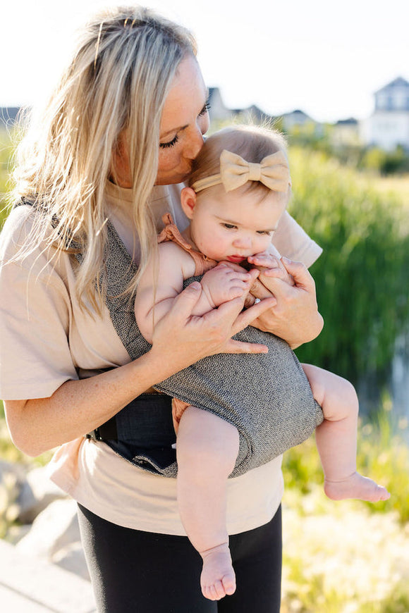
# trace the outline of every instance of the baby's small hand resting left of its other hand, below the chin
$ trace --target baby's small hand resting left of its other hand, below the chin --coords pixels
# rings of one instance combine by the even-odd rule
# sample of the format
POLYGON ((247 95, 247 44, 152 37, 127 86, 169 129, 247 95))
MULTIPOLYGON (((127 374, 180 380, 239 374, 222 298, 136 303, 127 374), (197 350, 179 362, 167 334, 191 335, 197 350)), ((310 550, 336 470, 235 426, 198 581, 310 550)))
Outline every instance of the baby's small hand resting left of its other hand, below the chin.
POLYGON ((233 268, 228 263, 221 262, 204 273, 200 283, 212 309, 249 292, 258 276, 258 271, 248 273, 243 268, 240 268, 240 270, 238 268, 233 268))

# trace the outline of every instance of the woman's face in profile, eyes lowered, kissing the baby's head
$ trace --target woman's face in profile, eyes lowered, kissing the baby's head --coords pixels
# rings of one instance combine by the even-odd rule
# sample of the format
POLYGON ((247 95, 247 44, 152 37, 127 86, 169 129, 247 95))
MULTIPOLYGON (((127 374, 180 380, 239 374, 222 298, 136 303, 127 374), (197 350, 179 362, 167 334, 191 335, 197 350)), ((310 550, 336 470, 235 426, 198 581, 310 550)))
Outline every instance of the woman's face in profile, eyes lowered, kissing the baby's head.
POLYGON ((193 56, 181 61, 161 116, 157 185, 185 180, 209 128, 207 88, 193 56))

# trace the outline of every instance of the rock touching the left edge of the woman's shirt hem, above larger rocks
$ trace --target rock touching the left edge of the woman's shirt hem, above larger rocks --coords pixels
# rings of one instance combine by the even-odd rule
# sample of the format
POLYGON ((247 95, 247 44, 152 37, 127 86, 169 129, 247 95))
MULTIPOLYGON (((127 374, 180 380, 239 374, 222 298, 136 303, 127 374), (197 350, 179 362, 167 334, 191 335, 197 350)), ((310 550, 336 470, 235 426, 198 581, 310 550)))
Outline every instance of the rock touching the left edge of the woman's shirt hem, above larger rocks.
POLYGON ((33 469, 21 484, 16 500, 19 507, 18 521, 31 524, 51 502, 63 497, 66 497, 66 494, 50 481, 47 466, 33 469))

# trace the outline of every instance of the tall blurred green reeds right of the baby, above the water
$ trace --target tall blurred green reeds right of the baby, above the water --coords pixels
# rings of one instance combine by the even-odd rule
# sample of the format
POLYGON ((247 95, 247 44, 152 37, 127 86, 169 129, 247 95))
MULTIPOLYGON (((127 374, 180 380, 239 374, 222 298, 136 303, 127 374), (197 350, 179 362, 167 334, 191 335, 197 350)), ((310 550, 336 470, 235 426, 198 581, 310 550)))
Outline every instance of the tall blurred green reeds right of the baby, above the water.
POLYGON ((312 266, 324 330, 298 357, 355 383, 380 376, 409 323, 407 210, 322 152, 292 148, 290 164, 290 212, 324 250, 312 266))

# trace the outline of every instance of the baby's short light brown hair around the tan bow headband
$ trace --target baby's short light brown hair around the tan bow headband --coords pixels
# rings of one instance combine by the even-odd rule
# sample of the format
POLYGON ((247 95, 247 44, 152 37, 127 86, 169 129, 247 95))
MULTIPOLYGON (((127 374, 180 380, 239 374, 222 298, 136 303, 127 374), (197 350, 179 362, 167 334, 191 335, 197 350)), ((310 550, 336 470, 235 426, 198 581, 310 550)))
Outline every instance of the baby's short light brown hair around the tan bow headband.
MULTIPOLYGON (((189 187, 201 179, 220 172, 220 156, 224 149, 240 155, 250 163, 260 163, 264 157, 276 151, 283 151, 287 156, 286 139, 278 130, 260 125, 233 125, 223 128, 206 139, 199 155, 193 161, 189 187)), ((266 194, 270 191, 259 181, 248 181, 244 191, 248 190, 260 190, 266 194)), ((197 196, 200 197, 200 194, 202 192, 197 196)))

